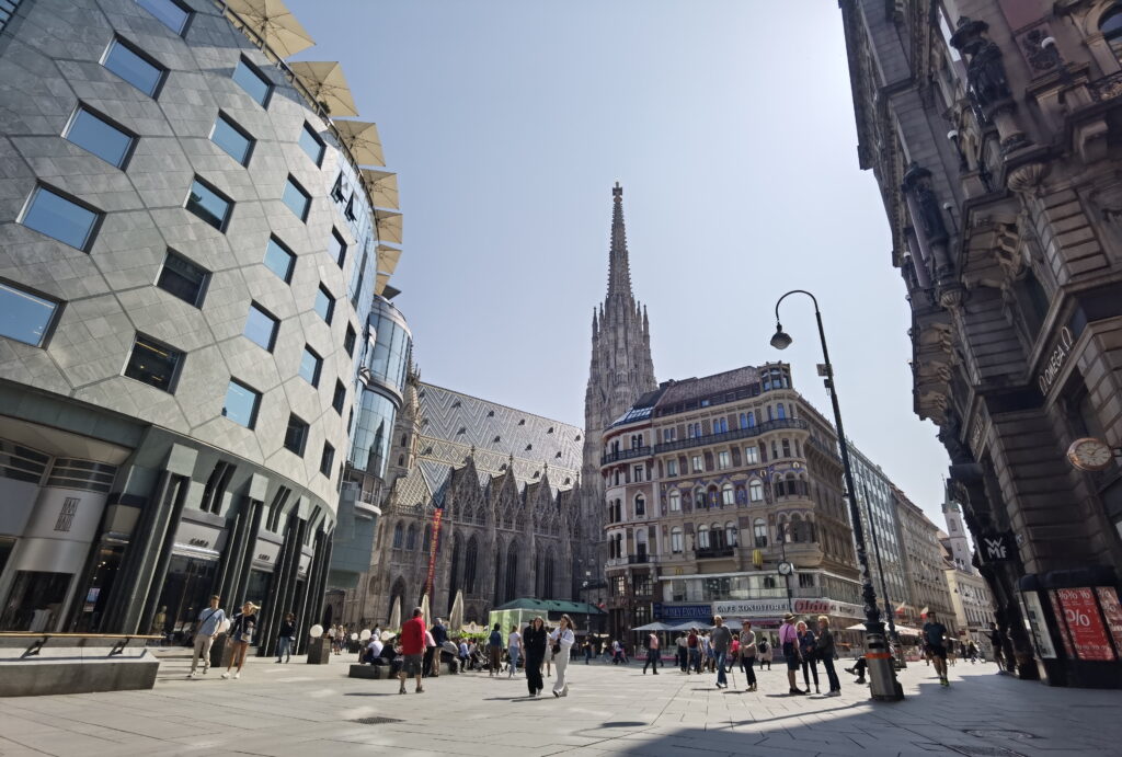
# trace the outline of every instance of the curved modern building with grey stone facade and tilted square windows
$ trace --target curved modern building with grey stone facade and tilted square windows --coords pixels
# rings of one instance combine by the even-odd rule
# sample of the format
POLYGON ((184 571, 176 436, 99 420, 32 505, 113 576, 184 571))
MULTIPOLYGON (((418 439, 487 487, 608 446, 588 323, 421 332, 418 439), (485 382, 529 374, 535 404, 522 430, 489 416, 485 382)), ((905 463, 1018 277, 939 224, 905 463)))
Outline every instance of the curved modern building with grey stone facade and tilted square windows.
POLYGON ((339 65, 285 62, 300 33, 4 3, 0 629, 180 639, 219 593, 266 653, 320 618, 401 214, 339 65))

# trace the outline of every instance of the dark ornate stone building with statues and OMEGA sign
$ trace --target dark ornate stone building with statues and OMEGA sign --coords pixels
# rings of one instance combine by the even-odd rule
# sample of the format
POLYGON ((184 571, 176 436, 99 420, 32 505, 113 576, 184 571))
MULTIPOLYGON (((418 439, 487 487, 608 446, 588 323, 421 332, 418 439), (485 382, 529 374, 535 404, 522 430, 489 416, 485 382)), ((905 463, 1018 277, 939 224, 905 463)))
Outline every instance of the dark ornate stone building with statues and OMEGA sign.
POLYGON ((1122 3, 843 0, 858 160, 1018 673, 1122 681, 1122 3))

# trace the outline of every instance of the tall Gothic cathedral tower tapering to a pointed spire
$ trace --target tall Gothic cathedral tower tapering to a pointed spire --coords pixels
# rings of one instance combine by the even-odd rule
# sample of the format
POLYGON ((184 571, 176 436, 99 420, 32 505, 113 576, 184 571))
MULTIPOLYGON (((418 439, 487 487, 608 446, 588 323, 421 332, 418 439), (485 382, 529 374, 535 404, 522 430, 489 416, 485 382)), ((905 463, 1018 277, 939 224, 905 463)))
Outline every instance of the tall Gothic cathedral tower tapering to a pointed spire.
MULTIPOLYGON (((573 566, 577 587, 590 576, 603 578, 600 554, 604 526, 604 482, 600 456, 601 432, 617 421, 641 395, 656 388, 651 360, 651 327, 646 308, 632 294, 627 233, 624 229, 624 191, 611 190, 611 249, 608 257, 608 295, 592 311, 592 361, 585 395, 585 460, 581 470, 581 521, 587 546, 573 566)), ((585 597, 590 599, 591 597, 585 597)))

